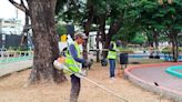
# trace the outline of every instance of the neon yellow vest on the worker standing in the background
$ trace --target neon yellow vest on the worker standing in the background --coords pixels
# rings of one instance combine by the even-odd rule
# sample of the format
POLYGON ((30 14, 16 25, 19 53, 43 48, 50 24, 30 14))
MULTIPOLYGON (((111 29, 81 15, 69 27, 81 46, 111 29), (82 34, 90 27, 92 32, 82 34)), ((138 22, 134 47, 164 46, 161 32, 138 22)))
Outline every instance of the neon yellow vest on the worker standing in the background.
POLYGON ((111 42, 111 44, 113 44, 113 48, 112 50, 115 50, 115 51, 109 51, 108 52, 108 59, 117 59, 117 44, 114 42, 111 42))

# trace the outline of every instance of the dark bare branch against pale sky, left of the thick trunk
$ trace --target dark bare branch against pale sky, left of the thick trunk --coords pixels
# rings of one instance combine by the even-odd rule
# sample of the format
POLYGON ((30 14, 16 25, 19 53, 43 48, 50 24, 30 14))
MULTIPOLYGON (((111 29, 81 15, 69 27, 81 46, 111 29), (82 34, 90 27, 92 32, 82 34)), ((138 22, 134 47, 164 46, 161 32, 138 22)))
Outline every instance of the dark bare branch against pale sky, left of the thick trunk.
POLYGON ((14 0, 9 0, 16 8, 20 9, 21 11, 26 12, 26 14, 29 14, 29 10, 28 8, 24 6, 23 0, 21 0, 21 3, 17 3, 14 0))

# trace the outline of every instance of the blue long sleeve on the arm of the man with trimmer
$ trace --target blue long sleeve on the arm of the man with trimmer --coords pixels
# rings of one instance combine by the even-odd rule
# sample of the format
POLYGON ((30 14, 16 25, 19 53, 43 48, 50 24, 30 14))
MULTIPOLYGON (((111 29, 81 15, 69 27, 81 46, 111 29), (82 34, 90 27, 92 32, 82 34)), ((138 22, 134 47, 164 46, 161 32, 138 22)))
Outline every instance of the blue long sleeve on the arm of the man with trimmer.
POLYGON ((77 61, 79 63, 84 63, 85 62, 84 59, 81 59, 81 58, 78 57, 78 52, 77 52, 77 49, 75 49, 74 44, 69 45, 69 53, 74 59, 74 61, 77 61))

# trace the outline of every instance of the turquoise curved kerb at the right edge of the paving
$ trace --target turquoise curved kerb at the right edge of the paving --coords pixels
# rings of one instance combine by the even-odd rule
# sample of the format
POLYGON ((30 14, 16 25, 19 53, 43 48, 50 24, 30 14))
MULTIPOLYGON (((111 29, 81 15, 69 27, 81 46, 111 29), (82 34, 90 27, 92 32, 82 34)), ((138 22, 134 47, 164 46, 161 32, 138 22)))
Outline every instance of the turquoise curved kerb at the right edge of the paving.
POLYGON ((176 76, 182 78, 182 65, 175 65, 175 67, 169 67, 165 72, 176 76), (181 70, 181 72, 178 72, 178 70, 181 70))

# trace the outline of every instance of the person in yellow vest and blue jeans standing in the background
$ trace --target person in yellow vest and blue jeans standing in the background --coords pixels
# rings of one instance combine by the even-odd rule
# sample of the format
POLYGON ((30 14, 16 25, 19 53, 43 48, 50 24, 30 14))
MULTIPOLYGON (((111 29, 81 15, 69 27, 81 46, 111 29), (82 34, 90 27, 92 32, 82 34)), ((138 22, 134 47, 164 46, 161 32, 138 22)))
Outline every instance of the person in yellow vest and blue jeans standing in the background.
POLYGON ((117 60, 117 55, 118 55, 118 48, 121 43, 119 41, 111 41, 110 47, 109 47, 109 52, 108 52, 108 60, 109 60, 109 64, 110 64, 110 78, 112 80, 115 79, 115 60, 117 60))

